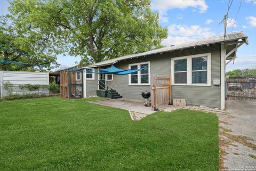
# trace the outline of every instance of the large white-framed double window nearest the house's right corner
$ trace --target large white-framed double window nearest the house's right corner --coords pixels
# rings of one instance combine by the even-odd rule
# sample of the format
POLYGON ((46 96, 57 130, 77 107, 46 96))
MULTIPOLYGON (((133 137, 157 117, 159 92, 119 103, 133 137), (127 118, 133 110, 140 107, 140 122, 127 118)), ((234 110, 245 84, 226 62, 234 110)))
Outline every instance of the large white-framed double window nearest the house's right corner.
POLYGON ((172 85, 211 85, 211 53, 172 59, 172 85))

